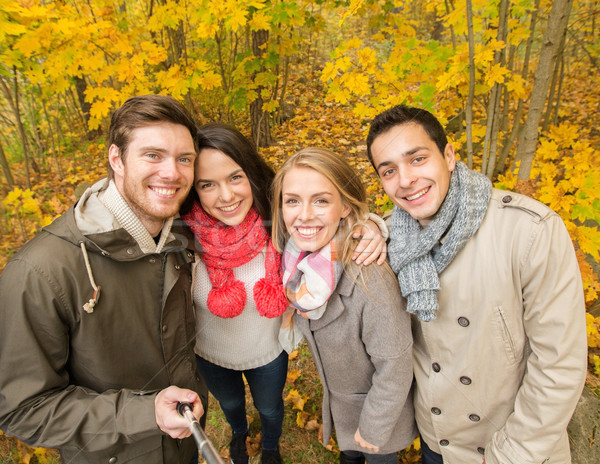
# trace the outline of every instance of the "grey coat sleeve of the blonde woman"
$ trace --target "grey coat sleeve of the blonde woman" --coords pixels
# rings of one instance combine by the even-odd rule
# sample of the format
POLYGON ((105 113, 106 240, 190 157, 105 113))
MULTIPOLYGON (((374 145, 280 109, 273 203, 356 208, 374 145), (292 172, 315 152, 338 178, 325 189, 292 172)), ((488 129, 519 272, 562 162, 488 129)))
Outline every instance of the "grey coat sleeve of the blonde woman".
MULTIPOLYGON (((370 266, 368 271, 362 341, 375 372, 359 430, 367 442, 382 447, 390 440, 406 402, 412 401, 412 334, 410 317, 402 308, 398 281, 392 271, 387 266, 370 266)), ((357 288, 362 287, 359 280, 357 288)))

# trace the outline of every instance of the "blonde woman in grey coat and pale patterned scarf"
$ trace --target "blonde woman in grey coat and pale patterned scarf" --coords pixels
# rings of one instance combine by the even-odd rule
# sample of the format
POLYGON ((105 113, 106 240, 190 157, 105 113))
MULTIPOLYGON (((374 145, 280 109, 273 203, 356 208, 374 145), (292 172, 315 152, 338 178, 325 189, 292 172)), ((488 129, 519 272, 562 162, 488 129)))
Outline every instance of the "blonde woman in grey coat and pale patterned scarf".
POLYGON ((341 463, 396 464, 416 436, 412 336, 388 266, 356 265, 366 194, 339 156, 307 148, 273 182, 273 243, 283 283, 323 384, 323 440, 341 463))

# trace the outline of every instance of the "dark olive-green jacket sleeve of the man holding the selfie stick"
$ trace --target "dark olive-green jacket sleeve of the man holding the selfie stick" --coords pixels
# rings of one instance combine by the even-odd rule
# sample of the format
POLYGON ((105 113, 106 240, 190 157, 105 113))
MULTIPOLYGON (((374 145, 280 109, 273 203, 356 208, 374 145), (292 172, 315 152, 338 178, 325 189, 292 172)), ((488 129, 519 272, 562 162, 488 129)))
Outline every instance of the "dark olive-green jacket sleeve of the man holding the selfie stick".
POLYGON ((13 260, 0 295, 0 429, 29 445, 91 452, 162 433, 156 392, 99 393, 72 383, 69 337, 77 323, 52 278, 13 260))

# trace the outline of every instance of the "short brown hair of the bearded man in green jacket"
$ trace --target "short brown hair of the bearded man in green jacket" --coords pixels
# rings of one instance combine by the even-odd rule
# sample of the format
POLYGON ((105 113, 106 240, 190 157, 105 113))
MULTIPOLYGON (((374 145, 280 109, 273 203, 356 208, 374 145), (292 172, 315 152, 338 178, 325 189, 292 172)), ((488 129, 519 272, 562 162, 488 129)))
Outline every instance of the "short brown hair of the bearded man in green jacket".
MULTIPOLYGON (((113 113, 108 131, 108 146, 117 146, 121 160, 125 162, 131 132, 139 127, 160 122, 185 126, 192 137, 196 133, 197 126, 194 118, 173 97, 168 95, 140 95, 129 98, 113 113)), ((113 170, 109 164, 108 176, 112 178, 113 175, 113 170)))

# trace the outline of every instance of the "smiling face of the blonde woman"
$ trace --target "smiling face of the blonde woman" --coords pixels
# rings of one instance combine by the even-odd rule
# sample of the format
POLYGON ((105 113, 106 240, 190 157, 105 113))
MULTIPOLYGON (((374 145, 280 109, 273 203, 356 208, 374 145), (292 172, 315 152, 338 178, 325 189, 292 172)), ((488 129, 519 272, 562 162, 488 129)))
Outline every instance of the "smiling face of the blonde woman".
POLYGON ((293 167, 281 187, 283 222, 294 243, 303 251, 317 251, 327 245, 340 220, 350 213, 333 183, 307 167, 293 167))

